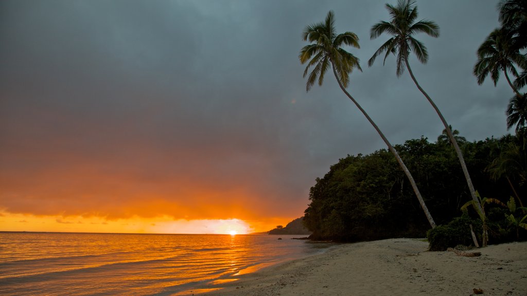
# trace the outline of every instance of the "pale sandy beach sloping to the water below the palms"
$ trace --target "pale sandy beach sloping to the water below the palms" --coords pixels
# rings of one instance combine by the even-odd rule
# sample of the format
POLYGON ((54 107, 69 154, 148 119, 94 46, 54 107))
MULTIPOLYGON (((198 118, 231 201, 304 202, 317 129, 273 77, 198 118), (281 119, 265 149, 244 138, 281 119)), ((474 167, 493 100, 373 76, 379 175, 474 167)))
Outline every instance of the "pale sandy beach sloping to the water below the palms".
MULTIPOLYGON (((527 295, 527 242, 471 250, 428 252, 417 239, 389 239, 337 245, 305 259, 289 261, 204 284, 188 295, 527 295), (207 290, 218 289, 218 290, 207 290), (209 291, 207 293, 200 293, 209 291)), ((183 295, 184 293, 182 293, 183 295)))

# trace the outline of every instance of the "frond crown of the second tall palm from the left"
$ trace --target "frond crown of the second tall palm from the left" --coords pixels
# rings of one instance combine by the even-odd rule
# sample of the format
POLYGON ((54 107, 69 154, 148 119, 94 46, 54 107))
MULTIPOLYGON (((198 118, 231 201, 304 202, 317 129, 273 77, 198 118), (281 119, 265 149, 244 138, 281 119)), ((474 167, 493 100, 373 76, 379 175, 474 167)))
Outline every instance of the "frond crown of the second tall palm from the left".
POLYGON ((419 62, 424 64, 428 61, 426 46, 415 39, 413 35, 425 33, 432 37, 438 37, 439 26, 426 19, 414 23, 417 19, 417 6, 414 1, 399 0, 396 6, 386 4, 386 9, 391 15, 390 22, 380 21, 373 25, 370 30, 370 38, 375 39, 383 33, 392 35, 392 37, 380 46, 369 59, 368 66, 372 66, 375 58, 384 52, 386 52, 384 61, 389 54, 393 54, 397 58, 397 76, 401 76, 411 51, 414 52, 419 62))

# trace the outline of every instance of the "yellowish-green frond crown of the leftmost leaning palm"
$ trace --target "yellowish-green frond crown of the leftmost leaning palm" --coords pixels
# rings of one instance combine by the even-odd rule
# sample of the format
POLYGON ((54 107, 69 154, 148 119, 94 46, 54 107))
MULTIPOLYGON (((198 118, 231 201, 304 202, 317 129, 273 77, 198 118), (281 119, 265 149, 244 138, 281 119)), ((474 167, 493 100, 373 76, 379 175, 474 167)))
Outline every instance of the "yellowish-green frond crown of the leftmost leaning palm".
POLYGON ((304 71, 304 77, 308 75, 309 68, 314 66, 307 79, 307 91, 315 84, 317 77, 318 85, 322 85, 324 75, 331 64, 335 67, 337 78, 344 87, 348 86, 349 74, 354 68, 362 71, 359 59, 341 48, 343 44, 360 48, 359 38, 352 32, 337 35, 335 33, 335 15, 332 11, 328 12, 325 22, 307 26, 302 33, 302 38, 304 41, 314 42, 302 47, 298 56, 302 64, 309 61, 304 71))

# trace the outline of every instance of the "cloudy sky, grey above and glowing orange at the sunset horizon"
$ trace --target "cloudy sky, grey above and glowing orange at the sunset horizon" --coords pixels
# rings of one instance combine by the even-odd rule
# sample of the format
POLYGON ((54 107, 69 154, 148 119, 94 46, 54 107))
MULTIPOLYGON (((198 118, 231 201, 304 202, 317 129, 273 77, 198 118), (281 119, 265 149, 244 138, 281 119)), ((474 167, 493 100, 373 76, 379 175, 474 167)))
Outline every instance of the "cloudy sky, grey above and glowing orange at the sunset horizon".
MULTIPOLYGON (((333 76, 306 92, 306 25, 358 35, 348 91, 392 144, 444 126, 395 58, 386 1, 0 2, 0 231, 239 233, 304 214, 317 177, 385 144, 333 76)), ((395 0, 388 3, 396 4, 395 0)), ((496 1, 417 1, 419 83, 469 141, 500 137, 512 91, 477 85, 496 1)))

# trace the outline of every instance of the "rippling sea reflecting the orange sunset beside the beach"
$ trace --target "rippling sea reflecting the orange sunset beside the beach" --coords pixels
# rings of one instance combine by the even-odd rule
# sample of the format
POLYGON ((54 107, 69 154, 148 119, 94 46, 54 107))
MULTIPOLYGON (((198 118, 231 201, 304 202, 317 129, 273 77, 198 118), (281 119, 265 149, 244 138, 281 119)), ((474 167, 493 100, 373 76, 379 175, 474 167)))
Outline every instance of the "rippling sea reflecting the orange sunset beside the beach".
POLYGON ((172 295, 328 247, 292 237, 0 232, 0 295, 172 295))

